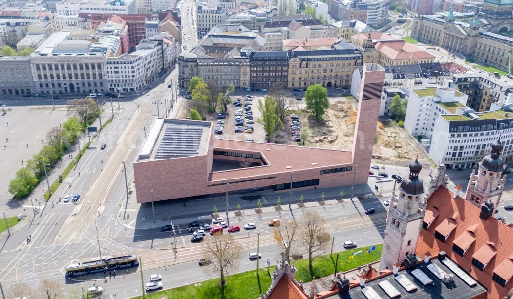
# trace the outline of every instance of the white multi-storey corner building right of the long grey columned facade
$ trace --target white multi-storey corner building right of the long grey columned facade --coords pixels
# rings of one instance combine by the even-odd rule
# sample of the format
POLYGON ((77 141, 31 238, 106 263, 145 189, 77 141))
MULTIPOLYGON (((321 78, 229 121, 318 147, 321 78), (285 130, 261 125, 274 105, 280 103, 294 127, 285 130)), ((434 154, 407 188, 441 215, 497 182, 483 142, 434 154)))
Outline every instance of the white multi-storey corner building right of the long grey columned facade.
POLYGON ((133 92, 146 88, 162 72, 163 63, 162 47, 156 41, 138 45, 133 53, 108 58, 109 91, 133 92))

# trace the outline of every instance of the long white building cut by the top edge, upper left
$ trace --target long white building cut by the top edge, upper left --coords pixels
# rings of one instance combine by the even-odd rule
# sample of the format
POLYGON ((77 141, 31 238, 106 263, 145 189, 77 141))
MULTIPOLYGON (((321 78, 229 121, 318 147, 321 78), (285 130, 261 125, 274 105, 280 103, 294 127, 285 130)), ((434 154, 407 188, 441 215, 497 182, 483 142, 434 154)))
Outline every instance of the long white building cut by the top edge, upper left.
POLYGON ((78 15, 79 13, 135 14, 136 0, 64 0, 55 5, 57 15, 78 15))

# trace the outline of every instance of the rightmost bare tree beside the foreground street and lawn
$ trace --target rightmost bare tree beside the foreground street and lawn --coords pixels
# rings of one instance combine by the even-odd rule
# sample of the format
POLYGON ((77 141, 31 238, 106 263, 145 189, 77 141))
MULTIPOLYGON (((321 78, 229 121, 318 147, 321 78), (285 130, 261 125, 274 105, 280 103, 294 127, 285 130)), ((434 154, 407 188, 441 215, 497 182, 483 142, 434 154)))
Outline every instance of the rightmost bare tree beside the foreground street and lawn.
POLYGON ((299 235, 308 251, 308 269, 313 272, 312 261, 326 252, 330 236, 326 232, 324 219, 315 211, 307 211, 299 222, 299 235))

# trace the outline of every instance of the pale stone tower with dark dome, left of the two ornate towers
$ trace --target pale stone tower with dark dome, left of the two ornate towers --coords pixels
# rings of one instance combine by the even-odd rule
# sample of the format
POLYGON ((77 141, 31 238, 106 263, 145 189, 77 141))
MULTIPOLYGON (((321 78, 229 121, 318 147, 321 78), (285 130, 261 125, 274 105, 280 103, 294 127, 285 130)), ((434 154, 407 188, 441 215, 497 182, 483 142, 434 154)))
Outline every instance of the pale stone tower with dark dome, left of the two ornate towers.
POLYGON ((385 239, 380 270, 401 264, 407 254, 415 254, 424 221, 426 202, 424 184, 419 178, 422 164, 415 159, 409 165, 410 175, 401 182, 399 196, 392 195, 386 219, 385 239))

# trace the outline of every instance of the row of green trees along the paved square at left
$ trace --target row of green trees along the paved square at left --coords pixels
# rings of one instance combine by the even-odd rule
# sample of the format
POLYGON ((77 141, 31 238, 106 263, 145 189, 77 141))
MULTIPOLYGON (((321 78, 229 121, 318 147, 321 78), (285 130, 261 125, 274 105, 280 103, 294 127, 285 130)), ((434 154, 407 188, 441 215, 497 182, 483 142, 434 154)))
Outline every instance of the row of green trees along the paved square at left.
POLYGON ((41 151, 27 160, 25 166, 19 169, 14 179, 9 182, 8 191, 15 199, 27 197, 45 178, 45 167, 49 172, 98 116, 96 103, 89 98, 69 100, 67 106, 68 115, 71 117, 62 126, 54 126, 48 131, 46 144, 41 151))

